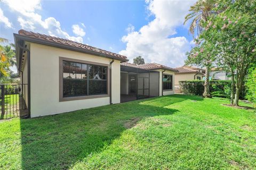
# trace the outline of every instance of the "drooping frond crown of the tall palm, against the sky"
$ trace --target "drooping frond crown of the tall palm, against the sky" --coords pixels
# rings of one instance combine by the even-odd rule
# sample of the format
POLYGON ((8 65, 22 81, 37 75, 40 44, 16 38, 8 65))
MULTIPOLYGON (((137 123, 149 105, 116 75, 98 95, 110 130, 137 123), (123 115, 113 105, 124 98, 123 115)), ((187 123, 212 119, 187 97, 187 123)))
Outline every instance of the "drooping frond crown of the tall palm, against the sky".
POLYGON ((216 0, 199 0, 194 5, 190 6, 189 14, 185 16, 186 24, 189 20, 192 20, 189 26, 189 32, 194 36, 195 29, 197 29, 197 36, 203 31, 202 21, 206 22, 209 16, 214 13, 212 9, 216 0))

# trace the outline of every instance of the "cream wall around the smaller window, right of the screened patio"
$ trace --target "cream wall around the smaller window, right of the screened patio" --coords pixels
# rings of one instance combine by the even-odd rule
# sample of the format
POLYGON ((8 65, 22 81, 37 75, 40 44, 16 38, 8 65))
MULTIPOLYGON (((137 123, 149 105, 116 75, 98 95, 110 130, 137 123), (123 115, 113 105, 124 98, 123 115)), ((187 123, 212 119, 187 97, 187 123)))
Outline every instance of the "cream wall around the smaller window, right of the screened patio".
MULTIPOLYGON (((162 72, 164 71, 163 69, 158 69, 158 70, 154 70, 154 71, 158 71, 159 72, 159 96, 162 96, 162 89, 163 89, 163 77, 162 77, 162 72)), ((169 70, 165 70, 165 72, 163 74, 171 74, 172 75, 172 90, 169 91, 163 91, 163 96, 166 95, 173 95, 174 94, 174 82, 175 82, 175 74, 172 71, 169 70)))

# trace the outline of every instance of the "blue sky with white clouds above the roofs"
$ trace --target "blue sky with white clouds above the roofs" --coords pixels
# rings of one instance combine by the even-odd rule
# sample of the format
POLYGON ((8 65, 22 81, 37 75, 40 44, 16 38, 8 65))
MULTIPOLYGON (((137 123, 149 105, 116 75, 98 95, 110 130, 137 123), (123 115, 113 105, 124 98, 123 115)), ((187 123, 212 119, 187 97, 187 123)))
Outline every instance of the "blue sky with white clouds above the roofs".
POLYGON ((1 37, 13 42, 13 32, 25 29, 172 67, 192 45, 183 19, 194 1, 31 2, 0 3, 1 37))

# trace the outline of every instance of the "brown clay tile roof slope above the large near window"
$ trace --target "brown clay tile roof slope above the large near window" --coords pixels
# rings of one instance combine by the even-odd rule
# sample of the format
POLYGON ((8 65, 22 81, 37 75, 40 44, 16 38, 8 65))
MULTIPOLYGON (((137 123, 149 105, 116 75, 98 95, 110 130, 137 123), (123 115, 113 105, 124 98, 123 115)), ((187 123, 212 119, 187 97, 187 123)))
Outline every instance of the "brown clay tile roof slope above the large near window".
POLYGON ((14 33, 14 37, 24 39, 25 41, 29 41, 32 43, 38 43, 38 44, 44 44, 44 45, 50 45, 54 47, 75 50, 78 52, 84 52, 84 53, 98 55, 102 57, 113 58, 113 59, 125 61, 125 62, 129 61, 127 57, 123 55, 108 52, 106 50, 85 45, 82 43, 77 43, 75 41, 71 41, 68 39, 47 36, 41 33, 35 33, 35 32, 26 31, 26 30, 19 30, 19 34, 14 33))

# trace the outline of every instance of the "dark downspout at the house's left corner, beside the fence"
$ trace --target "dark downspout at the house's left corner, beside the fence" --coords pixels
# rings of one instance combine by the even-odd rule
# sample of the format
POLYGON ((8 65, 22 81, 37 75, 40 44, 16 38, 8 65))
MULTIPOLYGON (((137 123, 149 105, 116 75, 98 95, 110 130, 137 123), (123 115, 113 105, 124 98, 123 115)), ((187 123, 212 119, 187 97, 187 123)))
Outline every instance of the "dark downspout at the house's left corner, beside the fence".
MULTIPOLYGON (((22 50, 26 50, 28 53, 28 55, 27 55, 27 60, 28 60, 28 115, 24 116, 22 118, 30 118, 30 50, 26 47, 22 47, 20 44, 18 44, 18 46, 22 50)), ((22 72, 22 77, 23 77, 23 72, 22 72)), ((23 79, 22 79, 22 81, 23 81, 23 79)))

